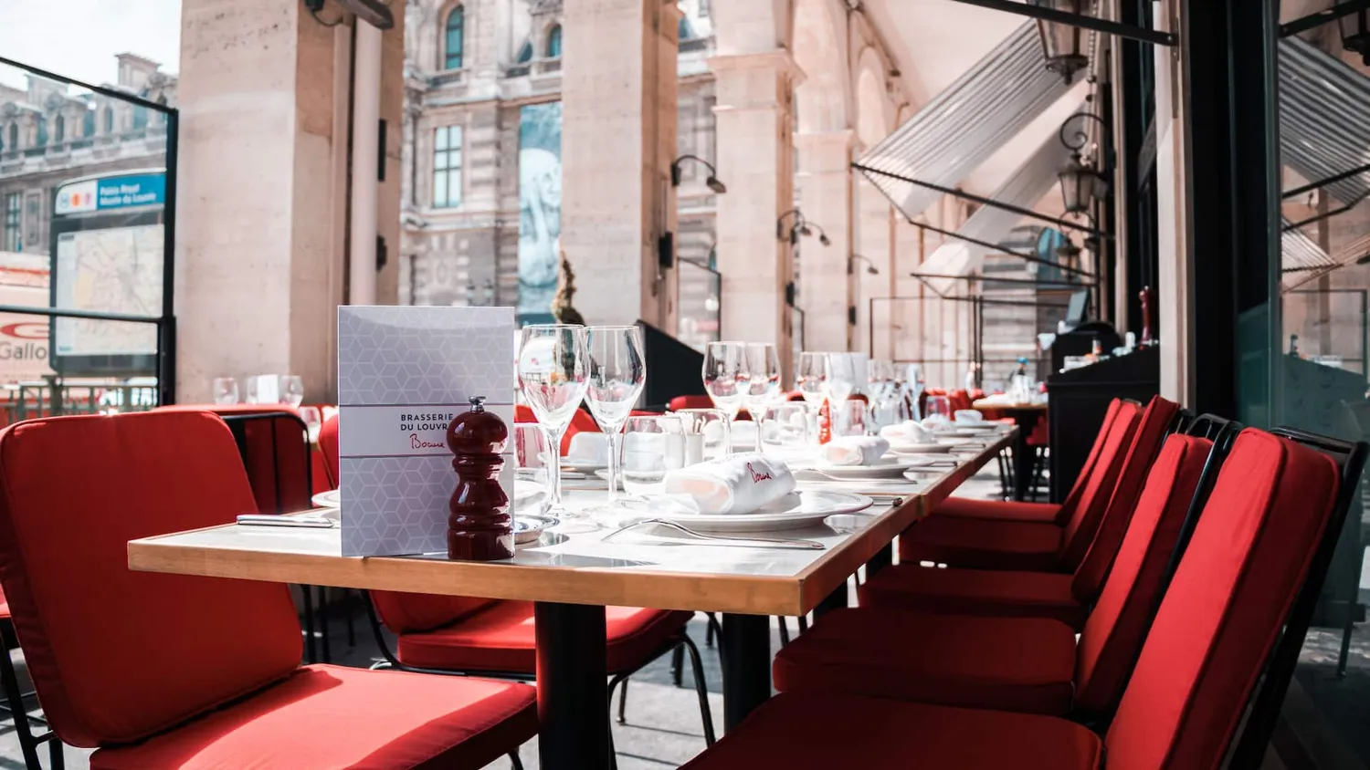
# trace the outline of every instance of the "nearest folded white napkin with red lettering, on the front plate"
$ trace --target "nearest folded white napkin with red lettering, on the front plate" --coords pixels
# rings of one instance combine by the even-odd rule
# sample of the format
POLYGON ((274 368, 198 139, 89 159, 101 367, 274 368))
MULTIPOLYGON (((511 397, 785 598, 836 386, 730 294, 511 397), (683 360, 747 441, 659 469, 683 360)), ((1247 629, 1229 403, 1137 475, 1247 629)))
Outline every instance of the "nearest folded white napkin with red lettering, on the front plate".
POLYGON ((795 491, 795 475, 780 460, 744 451, 666 475, 667 495, 688 498, 697 513, 751 513, 795 491))

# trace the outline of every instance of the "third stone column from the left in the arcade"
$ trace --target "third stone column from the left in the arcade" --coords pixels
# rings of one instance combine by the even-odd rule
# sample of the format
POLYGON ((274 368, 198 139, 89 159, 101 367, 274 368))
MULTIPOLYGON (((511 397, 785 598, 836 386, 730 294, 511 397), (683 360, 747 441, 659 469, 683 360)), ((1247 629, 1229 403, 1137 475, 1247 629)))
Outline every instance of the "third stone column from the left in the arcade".
MULTIPOLYGON (((789 372, 800 342, 785 301, 790 248, 777 238, 775 222, 795 208, 792 109, 800 72, 784 49, 714 56, 708 66, 718 94, 718 172, 727 179, 718 207, 723 339, 773 342, 789 372)), ((817 239, 804 243, 806 252, 821 248, 817 239)))

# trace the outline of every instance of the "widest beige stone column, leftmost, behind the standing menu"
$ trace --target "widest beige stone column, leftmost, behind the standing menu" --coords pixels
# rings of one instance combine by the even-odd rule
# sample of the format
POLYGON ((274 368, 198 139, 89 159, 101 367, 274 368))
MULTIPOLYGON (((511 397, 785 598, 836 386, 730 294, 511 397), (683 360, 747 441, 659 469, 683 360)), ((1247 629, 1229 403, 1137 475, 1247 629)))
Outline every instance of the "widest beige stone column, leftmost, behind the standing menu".
MULTIPOLYGON (((397 145, 393 55, 403 14, 382 45, 382 118, 397 145)), ((185 0, 177 176, 177 398, 210 399, 216 376, 293 373, 306 402, 336 397, 336 306, 342 301, 347 27, 303 4, 185 0), (341 71, 340 71, 341 70, 341 71)), ((386 155, 392 155, 393 148, 386 155)), ((393 161, 393 157, 390 157, 393 161)), ((370 172, 375 172, 370 170, 370 172)), ((399 197, 399 168, 386 168, 399 197)), ((397 200, 384 193, 384 217, 397 200)), ((393 301, 397 238, 382 272, 393 301)), ((382 300, 384 301, 384 300, 382 300)))

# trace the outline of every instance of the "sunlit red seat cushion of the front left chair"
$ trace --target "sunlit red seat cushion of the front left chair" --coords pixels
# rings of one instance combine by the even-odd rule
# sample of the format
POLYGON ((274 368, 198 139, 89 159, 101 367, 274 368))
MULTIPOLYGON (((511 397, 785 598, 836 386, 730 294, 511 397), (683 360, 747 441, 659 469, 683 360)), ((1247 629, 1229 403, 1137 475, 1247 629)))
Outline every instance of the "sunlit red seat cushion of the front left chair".
POLYGON ((310 666, 171 733, 101 748, 90 769, 475 770, 536 732, 525 684, 310 666))

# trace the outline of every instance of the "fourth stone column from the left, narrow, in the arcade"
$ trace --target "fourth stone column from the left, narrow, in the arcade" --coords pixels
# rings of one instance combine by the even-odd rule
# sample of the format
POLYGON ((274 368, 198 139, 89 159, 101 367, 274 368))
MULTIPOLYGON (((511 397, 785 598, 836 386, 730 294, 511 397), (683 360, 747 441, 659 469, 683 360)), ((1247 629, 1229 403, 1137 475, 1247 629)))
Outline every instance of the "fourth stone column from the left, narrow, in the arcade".
POLYGON ((804 217, 822 226, 832 239, 827 248, 804 239, 799 254, 799 306, 810 350, 847 350, 851 345, 847 256, 852 253, 852 137, 851 130, 795 137, 804 217))

